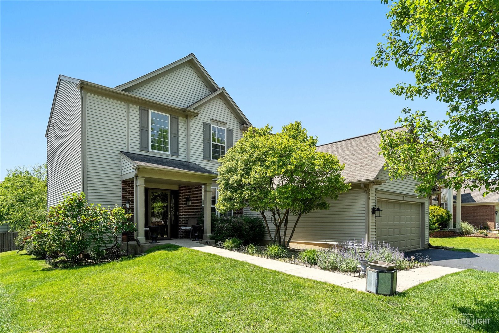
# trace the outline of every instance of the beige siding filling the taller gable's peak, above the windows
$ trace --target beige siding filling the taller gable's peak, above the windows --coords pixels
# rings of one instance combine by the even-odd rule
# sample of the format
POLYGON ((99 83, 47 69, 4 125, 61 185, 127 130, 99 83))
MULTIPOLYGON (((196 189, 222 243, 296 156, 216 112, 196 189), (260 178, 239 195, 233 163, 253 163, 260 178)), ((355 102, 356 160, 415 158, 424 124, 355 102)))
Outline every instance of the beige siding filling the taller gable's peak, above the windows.
POLYGON ((184 107, 211 92, 189 64, 130 91, 135 95, 184 107))

